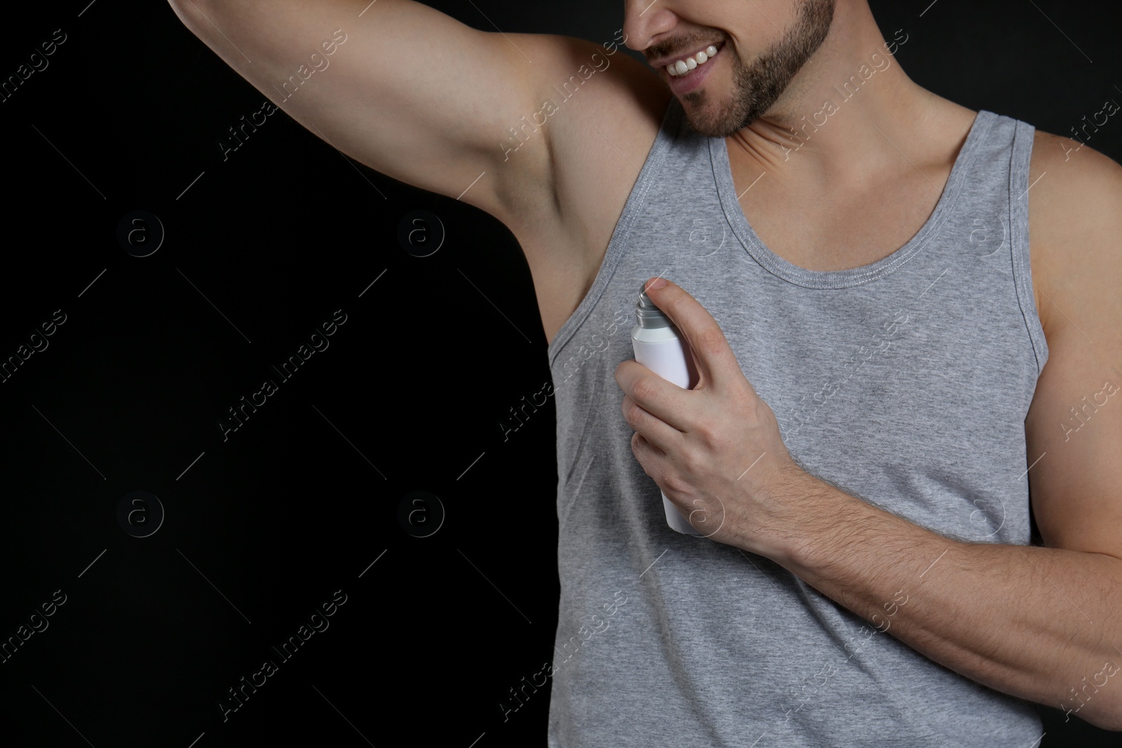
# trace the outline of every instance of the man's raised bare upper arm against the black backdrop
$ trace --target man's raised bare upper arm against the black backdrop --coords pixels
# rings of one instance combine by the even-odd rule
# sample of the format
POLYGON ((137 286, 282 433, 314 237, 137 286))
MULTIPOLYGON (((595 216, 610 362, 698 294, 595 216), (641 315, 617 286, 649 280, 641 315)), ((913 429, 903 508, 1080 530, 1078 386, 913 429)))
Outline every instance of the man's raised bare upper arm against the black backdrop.
POLYGON ((578 39, 479 31, 411 0, 171 4, 280 109, 383 174, 452 197, 471 185, 466 202, 500 219, 552 190, 548 138, 517 159, 499 142, 540 108, 549 74, 572 65, 578 39))

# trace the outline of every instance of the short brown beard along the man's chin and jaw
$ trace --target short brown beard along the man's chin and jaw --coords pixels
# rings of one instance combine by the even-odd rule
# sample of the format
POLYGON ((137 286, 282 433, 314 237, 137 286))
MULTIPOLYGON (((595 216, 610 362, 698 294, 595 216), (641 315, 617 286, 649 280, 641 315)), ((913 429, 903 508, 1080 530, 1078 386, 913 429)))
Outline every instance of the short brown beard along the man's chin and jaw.
MULTIPOLYGON (((822 44, 834 20, 834 2, 803 0, 794 26, 751 65, 730 55, 733 94, 727 103, 711 101, 703 86, 684 94, 690 127, 709 138, 727 138, 760 119, 822 44)), ((726 44, 725 49, 732 52, 730 46, 726 44)))

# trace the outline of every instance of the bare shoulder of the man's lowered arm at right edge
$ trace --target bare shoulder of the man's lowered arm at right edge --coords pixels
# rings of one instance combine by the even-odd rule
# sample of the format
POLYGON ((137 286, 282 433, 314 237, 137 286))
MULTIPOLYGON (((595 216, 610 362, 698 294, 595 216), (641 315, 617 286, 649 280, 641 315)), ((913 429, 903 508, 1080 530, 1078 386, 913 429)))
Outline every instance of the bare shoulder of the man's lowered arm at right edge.
POLYGON ((1033 281, 1050 299, 1038 304, 1047 334, 1049 322, 1055 326, 1055 310, 1096 298, 1105 303, 1116 293, 1122 278, 1122 166, 1089 145, 1037 130, 1029 184, 1033 281))

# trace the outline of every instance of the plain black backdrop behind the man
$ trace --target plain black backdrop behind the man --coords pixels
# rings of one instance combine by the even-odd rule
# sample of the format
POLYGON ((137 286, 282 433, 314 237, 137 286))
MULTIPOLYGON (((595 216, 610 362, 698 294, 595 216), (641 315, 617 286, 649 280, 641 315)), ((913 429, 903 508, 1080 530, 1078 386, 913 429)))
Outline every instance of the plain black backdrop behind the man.
MULTIPOLYGON (((616 2, 430 4, 595 41, 623 24, 616 2)), ((1116 10, 873 4, 885 36, 909 34, 910 76, 972 109, 1067 133, 1122 100, 1116 10)), ((166 3, 8 7, 0 76, 58 28, 49 66, 0 103, 0 358, 66 315, 0 385, 0 638, 66 595, 0 665, 3 742, 543 745, 548 686, 507 721, 498 708, 551 657, 559 590, 552 400, 499 427, 550 379, 511 233, 283 112, 223 160, 219 139, 263 98, 166 3), (135 210, 166 230, 146 258, 116 238, 135 210), (430 257, 396 240, 414 210, 447 231, 430 257), (223 441, 227 409, 337 310, 330 347, 223 441), (117 521, 135 490, 166 510, 149 537, 117 521), (447 511, 430 537, 398 523, 414 490, 447 511), (330 628, 223 722, 217 700, 335 590, 330 628)), ((1088 145, 1120 159, 1122 121, 1088 145)), ((1043 746, 1116 740, 1057 714, 1043 746)))

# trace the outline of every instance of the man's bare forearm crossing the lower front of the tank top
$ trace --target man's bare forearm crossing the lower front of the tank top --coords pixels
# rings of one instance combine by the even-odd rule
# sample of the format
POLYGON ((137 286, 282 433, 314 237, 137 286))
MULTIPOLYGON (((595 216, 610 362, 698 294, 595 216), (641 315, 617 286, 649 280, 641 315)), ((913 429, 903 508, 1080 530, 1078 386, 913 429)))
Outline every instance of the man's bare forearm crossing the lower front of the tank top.
POLYGON ((813 478, 791 490, 809 519, 778 563, 966 677, 1122 730, 1122 560, 951 541, 813 478))

